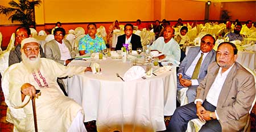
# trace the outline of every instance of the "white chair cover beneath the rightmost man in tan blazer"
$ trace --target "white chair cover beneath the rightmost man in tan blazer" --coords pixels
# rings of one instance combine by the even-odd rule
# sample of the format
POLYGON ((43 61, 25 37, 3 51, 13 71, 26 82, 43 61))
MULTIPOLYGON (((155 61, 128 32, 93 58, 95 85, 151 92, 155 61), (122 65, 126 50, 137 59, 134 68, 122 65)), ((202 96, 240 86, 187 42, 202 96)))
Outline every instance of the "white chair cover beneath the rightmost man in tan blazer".
MULTIPOLYGON (((246 68, 246 67, 245 67, 245 69, 246 69, 247 71, 249 71, 251 74, 254 75, 254 80, 255 80, 255 83, 256 83, 256 73, 255 73, 254 71, 252 71, 252 70, 246 68)), ((256 89, 256 86, 255 86, 255 89, 256 89)), ((255 104, 255 101, 256 101, 256 96, 255 96, 255 99, 254 99, 254 101, 253 101, 253 104, 251 105, 251 109, 253 109, 253 106, 254 106, 254 104, 255 104)), ((251 113, 251 109, 250 109, 249 113, 251 113)), ((249 118, 250 118, 250 117, 249 117, 249 118)), ((190 121, 188 122, 187 131, 188 131, 188 132, 194 132, 194 131, 197 132, 197 131, 199 131, 199 130, 201 129, 201 127, 202 127, 204 124, 205 124, 205 122, 201 122, 201 121, 199 120, 199 118, 190 120, 190 121)))

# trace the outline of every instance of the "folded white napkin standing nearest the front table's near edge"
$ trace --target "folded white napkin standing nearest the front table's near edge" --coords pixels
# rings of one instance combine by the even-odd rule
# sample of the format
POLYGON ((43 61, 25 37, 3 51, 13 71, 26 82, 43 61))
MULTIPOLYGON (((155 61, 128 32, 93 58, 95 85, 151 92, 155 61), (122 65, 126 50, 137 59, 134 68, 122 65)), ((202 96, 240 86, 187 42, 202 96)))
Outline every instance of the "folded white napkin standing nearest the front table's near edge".
POLYGON ((135 80, 145 75, 146 75, 145 70, 141 66, 133 66, 126 71, 125 75, 123 76, 123 80, 125 81, 135 80))

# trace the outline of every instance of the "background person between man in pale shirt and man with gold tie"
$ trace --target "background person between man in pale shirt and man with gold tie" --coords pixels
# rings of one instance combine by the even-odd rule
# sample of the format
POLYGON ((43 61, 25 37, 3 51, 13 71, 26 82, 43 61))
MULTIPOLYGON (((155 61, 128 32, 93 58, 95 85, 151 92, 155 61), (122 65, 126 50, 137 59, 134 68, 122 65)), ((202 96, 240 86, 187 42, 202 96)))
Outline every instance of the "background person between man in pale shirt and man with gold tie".
POLYGON ((185 42, 189 42, 190 38, 187 35, 188 27, 183 26, 180 28, 179 33, 175 35, 174 40, 179 44, 183 45, 185 42))

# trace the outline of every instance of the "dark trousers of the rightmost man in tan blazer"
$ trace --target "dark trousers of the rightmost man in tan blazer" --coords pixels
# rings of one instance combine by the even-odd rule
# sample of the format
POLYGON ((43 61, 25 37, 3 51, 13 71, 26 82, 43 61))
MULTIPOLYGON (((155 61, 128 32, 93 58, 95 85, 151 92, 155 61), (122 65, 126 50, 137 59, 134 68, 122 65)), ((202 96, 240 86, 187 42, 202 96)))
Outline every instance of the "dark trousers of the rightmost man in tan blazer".
MULTIPOLYGON (((203 103, 203 107, 206 110, 209 110, 211 112, 214 112, 216 107, 214 107, 212 104, 205 101, 203 103)), ((167 131, 186 131, 188 126, 188 121, 198 118, 196 116, 196 104, 195 103, 189 103, 187 105, 184 105, 182 107, 178 107, 174 115, 171 117, 171 121, 167 127, 167 131)), ((200 129, 200 131, 221 131, 221 125, 218 120, 210 120, 207 121, 200 129)))

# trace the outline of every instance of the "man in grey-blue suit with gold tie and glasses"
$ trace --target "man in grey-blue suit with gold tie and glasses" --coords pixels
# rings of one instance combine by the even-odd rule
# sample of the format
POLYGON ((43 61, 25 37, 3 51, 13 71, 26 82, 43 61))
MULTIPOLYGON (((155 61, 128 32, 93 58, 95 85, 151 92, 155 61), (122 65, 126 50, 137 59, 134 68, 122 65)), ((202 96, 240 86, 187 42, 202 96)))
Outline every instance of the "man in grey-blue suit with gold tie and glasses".
POLYGON ((188 87, 188 103, 195 101, 196 89, 207 74, 208 65, 215 61, 214 44, 214 37, 205 35, 201 39, 200 47, 190 48, 180 64, 177 71, 177 90, 188 87))

